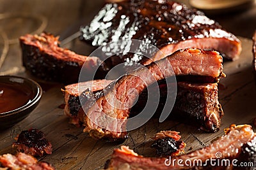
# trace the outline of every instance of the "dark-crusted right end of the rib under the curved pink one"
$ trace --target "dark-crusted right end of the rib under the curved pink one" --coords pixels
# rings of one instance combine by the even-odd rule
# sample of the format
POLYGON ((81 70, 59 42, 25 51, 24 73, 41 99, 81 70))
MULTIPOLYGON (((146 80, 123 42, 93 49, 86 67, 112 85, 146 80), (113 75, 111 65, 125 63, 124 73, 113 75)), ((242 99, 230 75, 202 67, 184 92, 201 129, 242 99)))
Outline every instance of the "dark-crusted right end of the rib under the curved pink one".
POLYGON ((218 83, 179 83, 172 113, 204 131, 219 131, 224 113, 218 101, 218 83))

